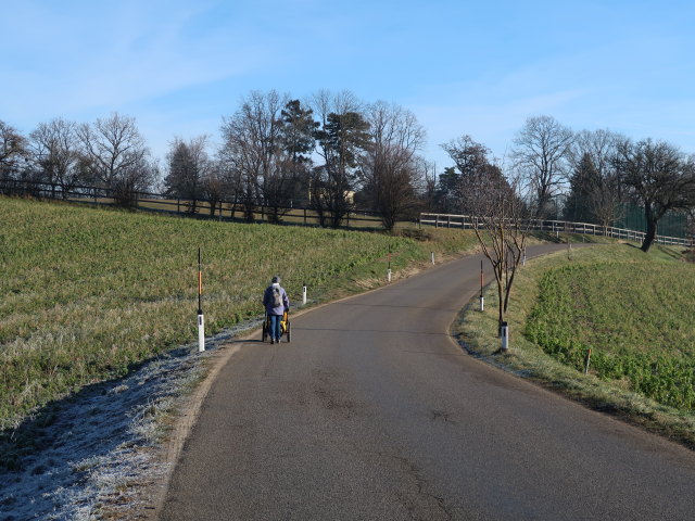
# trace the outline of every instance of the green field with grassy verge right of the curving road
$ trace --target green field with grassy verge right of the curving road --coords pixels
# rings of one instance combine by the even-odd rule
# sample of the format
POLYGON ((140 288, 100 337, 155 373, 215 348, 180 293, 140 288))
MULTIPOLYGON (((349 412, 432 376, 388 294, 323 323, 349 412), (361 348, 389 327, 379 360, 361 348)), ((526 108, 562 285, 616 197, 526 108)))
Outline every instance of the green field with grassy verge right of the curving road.
POLYGON ((493 291, 457 332, 491 361, 695 447, 695 265, 682 253, 615 244, 534 260, 516 281, 508 353, 493 291))

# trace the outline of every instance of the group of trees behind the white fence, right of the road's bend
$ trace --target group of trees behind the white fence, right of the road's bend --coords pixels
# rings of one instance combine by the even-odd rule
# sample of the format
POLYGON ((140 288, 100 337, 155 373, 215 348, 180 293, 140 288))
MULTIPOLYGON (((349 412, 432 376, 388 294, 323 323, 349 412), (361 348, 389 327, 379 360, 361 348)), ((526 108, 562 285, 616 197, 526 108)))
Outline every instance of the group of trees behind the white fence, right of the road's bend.
POLYGON ((632 204, 644 213, 645 252, 668 212, 683 212, 691 227, 695 223, 695 156, 666 141, 635 141, 605 129, 576 132, 551 116, 534 116, 502 161, 469 136, 442 147, 455 166, 439 176, 430 199, 444 213, 482 215, 484 193, 513 189, 527 218, 607 228, 632 204))

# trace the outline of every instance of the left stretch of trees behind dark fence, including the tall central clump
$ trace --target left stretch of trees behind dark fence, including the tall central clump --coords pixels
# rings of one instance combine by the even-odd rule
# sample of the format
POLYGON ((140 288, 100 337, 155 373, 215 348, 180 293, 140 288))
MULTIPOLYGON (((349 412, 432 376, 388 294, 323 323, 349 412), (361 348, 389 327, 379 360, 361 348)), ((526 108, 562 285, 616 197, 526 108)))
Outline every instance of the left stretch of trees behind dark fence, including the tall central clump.
POLYGON ((321 226, 339 227, 357 206, 378 212, 387 229, 422 209, 426 132, 396 104, 365 103, 348 91, 319 91, 306 101, 252 91, 223 117, 222 142, 175 137, 162 167, 135 119, 117 113, 93 124, 55 118, 28 137, 0 122, 0 177, 50 183, 58 194, 78 185, 110 189, 127 204, 154 190, 212 212, 231 202, 253 220, 271 223, 288 208, 313 208, 321 226))

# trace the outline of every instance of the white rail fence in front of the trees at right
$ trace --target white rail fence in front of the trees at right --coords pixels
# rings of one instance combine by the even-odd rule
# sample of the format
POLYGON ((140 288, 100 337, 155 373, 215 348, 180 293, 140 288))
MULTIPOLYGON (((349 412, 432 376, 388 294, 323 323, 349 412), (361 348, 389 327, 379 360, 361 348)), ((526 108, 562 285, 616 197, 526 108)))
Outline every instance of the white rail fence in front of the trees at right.
MULTIPOLYGON (((420 224, 430 225, 437 228, 462 228, 473 229, 478 224, 478 218, 469 215, 452 214, 420 214, 420 224)), ((604 228, 599 225, 589 223, 569 223, 566 220, 533 220, 531 229, 534 231, 546 231, 548 233, 582 233, 585 236, 605 236, 626 241, 642 242, 646 233, 644 231, 626 230, 612 226, 604 228)), ((692 246, 693 238, 656 236, 654 240, 657 244, 670 244, 680 246, 692 246)))

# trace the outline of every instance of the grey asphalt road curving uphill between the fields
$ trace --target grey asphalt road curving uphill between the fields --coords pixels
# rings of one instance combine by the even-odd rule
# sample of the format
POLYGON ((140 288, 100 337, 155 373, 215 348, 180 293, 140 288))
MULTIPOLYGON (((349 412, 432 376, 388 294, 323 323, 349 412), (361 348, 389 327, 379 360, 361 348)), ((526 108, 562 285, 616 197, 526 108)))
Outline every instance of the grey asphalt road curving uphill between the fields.
POLYGON ((161 519, 695 519, 692 452, 455 344, 479 269, 463 258, 296 316, 291 344, 245 342, 161 519))

